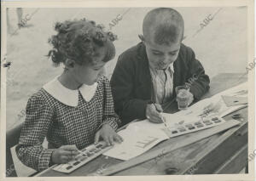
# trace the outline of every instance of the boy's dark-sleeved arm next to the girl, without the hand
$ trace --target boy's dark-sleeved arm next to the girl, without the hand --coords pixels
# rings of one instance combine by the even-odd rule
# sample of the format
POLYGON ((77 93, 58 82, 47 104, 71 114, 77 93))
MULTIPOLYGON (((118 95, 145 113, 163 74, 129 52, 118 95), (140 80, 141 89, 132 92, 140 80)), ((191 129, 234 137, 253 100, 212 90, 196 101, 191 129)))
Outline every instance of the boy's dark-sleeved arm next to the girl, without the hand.
POLYGON ((150 99, 134 97, 135 67, 132 58, 119 56, 111 78, 114 108, 121 117, 122 123, 135 119, 145 119, 145 112, 150 99))

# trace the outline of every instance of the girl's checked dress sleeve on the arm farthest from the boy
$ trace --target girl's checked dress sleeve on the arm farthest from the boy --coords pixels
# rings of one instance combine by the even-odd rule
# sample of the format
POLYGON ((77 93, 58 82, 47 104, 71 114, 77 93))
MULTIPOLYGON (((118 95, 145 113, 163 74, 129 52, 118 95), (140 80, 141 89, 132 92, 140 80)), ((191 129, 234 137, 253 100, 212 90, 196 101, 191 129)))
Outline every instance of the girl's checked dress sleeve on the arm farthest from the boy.
POLYGON ((53 109, 40 96, 33 95, 26 105, 26 120, 16 153, 28 167, 42 171, 49 167, 54 150, 44 149, 43 142, 52 125, 53 109))

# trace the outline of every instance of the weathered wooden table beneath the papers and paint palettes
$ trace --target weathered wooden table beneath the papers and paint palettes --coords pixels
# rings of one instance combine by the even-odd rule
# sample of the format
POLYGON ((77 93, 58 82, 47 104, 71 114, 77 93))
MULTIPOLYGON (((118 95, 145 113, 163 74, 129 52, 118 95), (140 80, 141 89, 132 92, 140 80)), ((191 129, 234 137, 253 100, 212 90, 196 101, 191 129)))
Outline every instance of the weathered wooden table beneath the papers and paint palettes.
MULTIPOLYGON (((246 81, 247 76, 241 78, 241 74, 224 73, 214 76, 211 80, 211 88, 204 98, 246 81)), ((166 110, 170 109, 172 112, 176 111, 177 103, 173 102, 166 107, 166 110)), ((241 113, 244 119, 240 126, 230 128, 223 133, 212 135, 207 139, 201 139, 201 141, 195 144, 189 144, 179 150, 174 150, 160 159, 146 161, 136 167, 131 167, 114 175, 239 173, 243 167, 247 166, 247 108, 237 110, 236 113, 238 112, 241 113), (170 167, 176 168, 177 170, 172 173, 166 173, 166 169, 170 167)), ((224 119, 228 121, 231 119, 231 116, 232 114, 225 116, 224 119)), ((177 142, 182 142, 183 136, 174 139, 177 142)), ((156 145, 151 150, 160 149, 164 145, 170 144, 170 140, 168 139, 156 145)), ((55 172, 49 168, 38 176, 85 176, 89 173, 96 172, 101 167, 105 167, 106 165, 111 166, 119 162, 121 161, 111 157, 99 156, 70 174, 55 172)))

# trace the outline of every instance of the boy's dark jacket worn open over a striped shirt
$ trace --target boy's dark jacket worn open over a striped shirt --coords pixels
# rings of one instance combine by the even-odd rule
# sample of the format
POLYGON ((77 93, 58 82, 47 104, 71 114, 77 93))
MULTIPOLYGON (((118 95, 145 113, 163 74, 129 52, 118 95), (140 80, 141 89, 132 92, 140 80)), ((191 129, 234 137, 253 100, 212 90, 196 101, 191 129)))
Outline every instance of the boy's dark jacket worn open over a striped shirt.
MULTIPOLYGON (((173 93, 175 88, 184 85, 189 78, 199 76, 192 84, 190 92, 195 101, 209 89, 209 77, 201 63, 195 59, 193 50, 181 44, 177 59, 173 63, 173 93)), ((143 42, 129 48, 119 56, 111 78, 114 107, 121 117, 122 124, 134 119, 146 119, 146 106, 151 101, 152 81, 148 67, 148 57, 143 42)), ((170 101, 172 100, 170 99, 170 101)))

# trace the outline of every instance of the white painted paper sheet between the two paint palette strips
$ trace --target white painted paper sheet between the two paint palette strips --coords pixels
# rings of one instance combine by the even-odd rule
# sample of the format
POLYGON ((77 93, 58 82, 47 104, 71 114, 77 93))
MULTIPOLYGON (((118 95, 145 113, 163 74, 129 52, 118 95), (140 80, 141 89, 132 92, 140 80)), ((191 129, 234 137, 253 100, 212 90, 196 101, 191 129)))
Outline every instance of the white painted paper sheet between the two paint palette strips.
POLYGON ((155 144, 169 139, 166 133, 160 129, 161 126, 163 124, 151 123, 148 120, 133 122, 118 133, 124 141, 121 144, 116 143, 111 150, 103 155, 124 161, 139 156, 155 144))

